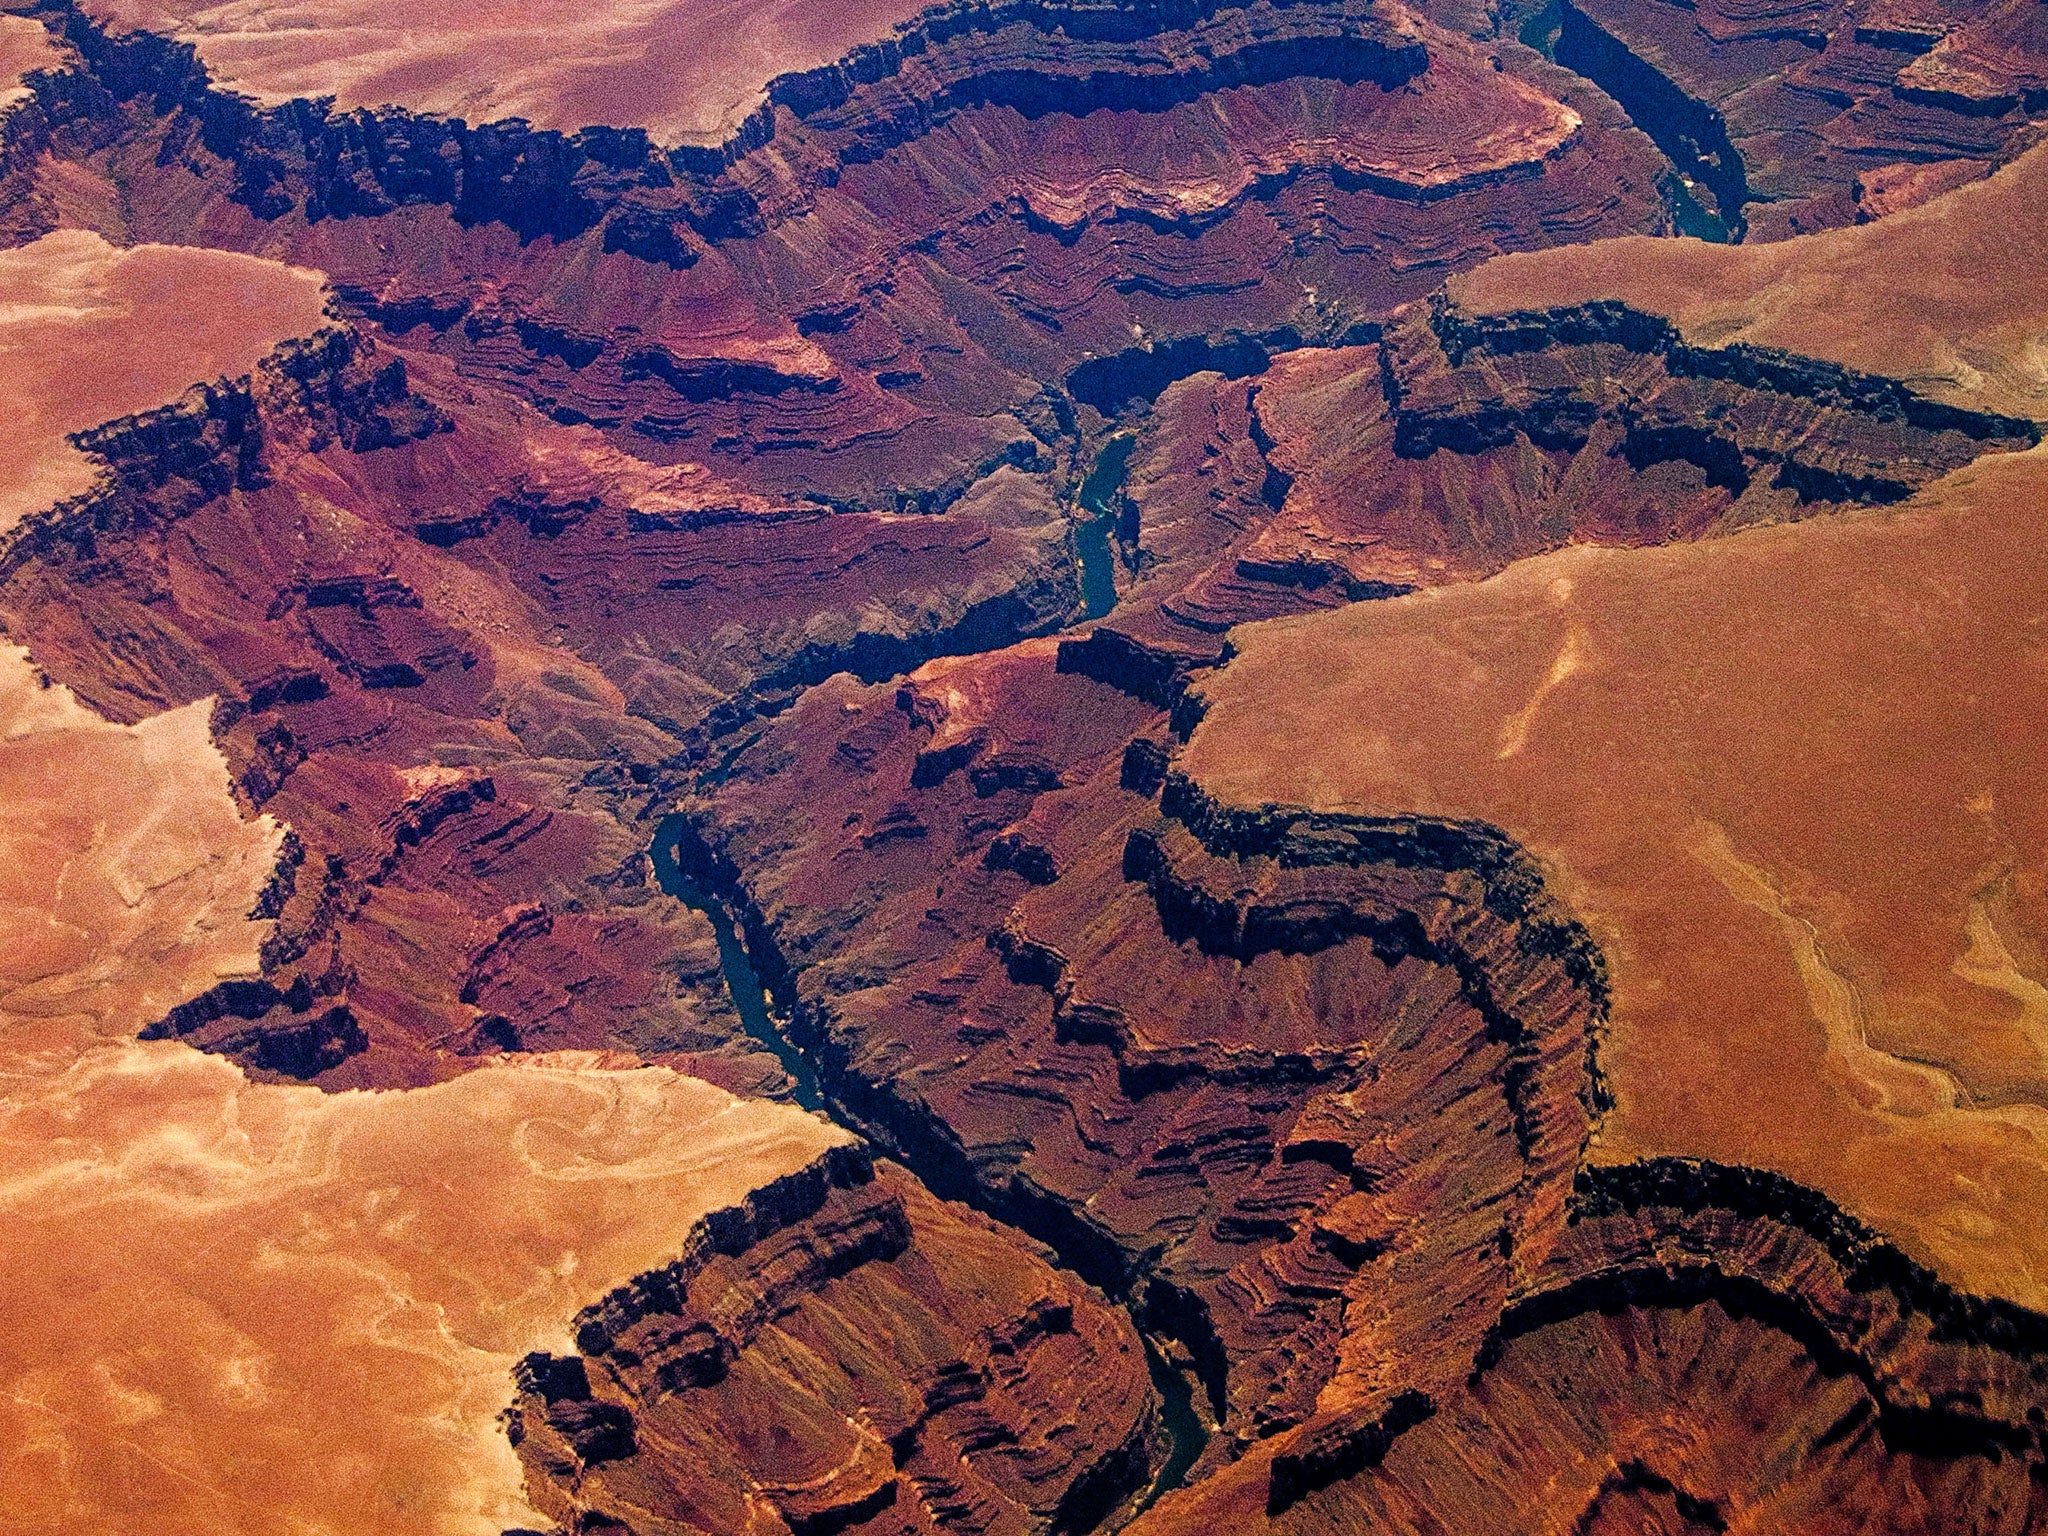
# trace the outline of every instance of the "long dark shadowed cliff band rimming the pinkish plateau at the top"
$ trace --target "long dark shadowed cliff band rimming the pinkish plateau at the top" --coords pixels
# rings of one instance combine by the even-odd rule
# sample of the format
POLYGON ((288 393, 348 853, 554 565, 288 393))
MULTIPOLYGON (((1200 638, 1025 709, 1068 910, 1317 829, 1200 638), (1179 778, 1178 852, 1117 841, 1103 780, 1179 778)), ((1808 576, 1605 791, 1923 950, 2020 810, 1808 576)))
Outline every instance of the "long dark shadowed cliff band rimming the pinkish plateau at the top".
MULTIPOLYGON (((197 119, 205 147, 236 166, 233 197, 266 217, 289 207, 317 219, 440 203, 463 221, 502 221, 528 238, 573 238, 604 221, 608 250, 672 264, 696 256, 684 229, 719 240, 803 211, 844 168, 881 160, 961 113, 1161 115, 1219 90, 1290 80, 1389 90, 1432 68, 1427 41, 1460 49, 1448 35, 1425 41, 1397 8, 1356 0, 938 6, 836 63, 776 76, 762 111, 723 145, 664 150, 633 125, 563 133, 522 119, 469 125, 410 104, 338 115, 297 100, 262 109, 211 90, 188 43, 113 33, 90 8, 45 14, 88 66, 84 78, 47 90, 55 123, 90 119, 104 98, 176 104, 197 119)), ((1534 92, 1513 104, 1526 117, 1513 125, 1522 143, 1448 164, 1409 150, 1356 174, 1378 176, 1397 195, 1442 195, 1460 180, 1540 166, 1575 121, 1534 92)))

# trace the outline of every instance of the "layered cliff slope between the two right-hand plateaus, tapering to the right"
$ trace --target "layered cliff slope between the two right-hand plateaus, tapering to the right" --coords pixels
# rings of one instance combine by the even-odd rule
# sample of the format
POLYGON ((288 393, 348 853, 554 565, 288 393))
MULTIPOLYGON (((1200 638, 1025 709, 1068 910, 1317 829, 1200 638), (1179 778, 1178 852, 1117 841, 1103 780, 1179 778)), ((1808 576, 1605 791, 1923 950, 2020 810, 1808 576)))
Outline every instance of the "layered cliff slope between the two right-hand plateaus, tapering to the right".
POLYGON ((1612 299, 1468 311, 1204 371, 1122 440, 1122 602, 1065 666, 1171 705, 1231 625, 1491 575, 1561 545, 1659 545, 1905 500, 2032 420, 1612 299), (1221 373, 1221 377, 1219 377, 1221 373))

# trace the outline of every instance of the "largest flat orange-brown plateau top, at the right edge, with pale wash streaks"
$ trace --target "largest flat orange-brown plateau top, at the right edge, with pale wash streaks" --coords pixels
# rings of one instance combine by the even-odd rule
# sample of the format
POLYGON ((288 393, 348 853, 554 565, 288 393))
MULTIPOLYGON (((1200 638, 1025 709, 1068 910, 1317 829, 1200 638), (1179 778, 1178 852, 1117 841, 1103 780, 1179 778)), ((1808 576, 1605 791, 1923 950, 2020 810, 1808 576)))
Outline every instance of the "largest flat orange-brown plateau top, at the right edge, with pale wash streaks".
MULTIPOLYGON (((2034 608, 2009 584, 2028 580, 2015 559, 2038 479, 2038 451, 2005 455, 1896 518, 1669 551, 1575 551, 1487 584, 1358 606, 1323 623, 1348 631, 1343 655, 1389 672, 1360 692, 1331 680, 1307 715, 1262 694, 1257 727, 1262 741, 1276 725, 1298 737, 1290 762, 1325 774, 1325 805, 1499 825, 1597 913, 1616 983, 1604 1061, 1620 1108, 1604 1133, 1608 1155, 1776 1167, 1952 1278, 2023 1300, 2038 1298, 2038 1266, 2034 1237, 2013 1219, 2036 1198, 2028 1190, 2042 1167, 2036 1049, 2019 1001, 2032 920, 2023 834, 2007 844, 2003 829, 2028 811, 1997 743, 2019 739, 2007 731, 2032 709, 2005 664, 2021 645, 2005 625, 2034 608), (1935 590, 1952 596, 1919 608, 1923 598, 1890 596, 1896 584, 1927 602, 1935 590), (1444 639, 1495 633, 1477 616, 1491 604, 1513 614, 1497 631, 1516 635, 1511 664, 1444 639), (1403 635, 1419 612, 1432 614, 1432 637, 1403 635), (1475 668, 1493 678, 1477 692, 1475 668), (1655 680, 1679 674, 1686 686, 1661 692, 1655 680), (1837 713, 1829 700, 1845 692, 1862 702, 1837 713), (1399 750, 1380 758, 1376 745, 1354 758, 1397 774, 1399 801, 1315 768, 1315 711, 1354 711, 1368 696, 1378 719, 1403 721, 1401 739, 1432 743, 1423 760, 1442 754, 1434 766, 1403 766, 1399 750), (1626 735, 1595 723, 1604 700, 1630 719, 1626 735), (1786 729, 1737 727, 1786 721, 1782 700, 1798 700, 1786 729), (1970 725, 1950 721, 1950 709, 1970 725), (1894 723, 1921 745, 1872 737, 1894 723), (1655 766, 1679 752, 1681 772, 1655 766), (1606 788, 1593 793, 1595 782, 1606 788), (1759 799, 1759 784, 1778 788, 1759 799), (1851 825, 1853 838, 1833 836, 1851 825), (1677 911, 1683 922, 1671 922, 1677 911), (1731 954, 1745 963, 1729 967, 1731 954), (1745 1071, 1765 1038, 1776 1059, 1796 1049, 1810 1071, 1745 1071), (1837 1130, 1817 1141, 1821 1122, 1837 1130), (1919 1151, 1894 1161, 1907 1145, 1919 1151), (1929 1180, 1929 1161, 1960 1178, 1929 1180), (1997 1184, 1978 1184, 1970 1169, 1993 1163, 1997 1184)), ((1276 639, 1290 623, 1315 621, 1280 621, 1276 639)), ((1260 686, 1270 664, 1253 635, 1239 633, 1241 655, 1214 674, 1219 684, 1237 670, 1223 686, 1260 686)), ((1329 639, 1309 643, 1325 653, 1329 639)), ((1235 707, 1221 717, 1225 694, 1206 684, 1204 694, 1190 772, 1233 803, 1280 799, 1233 745, 1243 717, 1235 707)), ((1354 741, 1360 729, 1370 727, 1354 727, 1354 741)), ((1391 735, 1368 743, 1380 739, 1391 735)))

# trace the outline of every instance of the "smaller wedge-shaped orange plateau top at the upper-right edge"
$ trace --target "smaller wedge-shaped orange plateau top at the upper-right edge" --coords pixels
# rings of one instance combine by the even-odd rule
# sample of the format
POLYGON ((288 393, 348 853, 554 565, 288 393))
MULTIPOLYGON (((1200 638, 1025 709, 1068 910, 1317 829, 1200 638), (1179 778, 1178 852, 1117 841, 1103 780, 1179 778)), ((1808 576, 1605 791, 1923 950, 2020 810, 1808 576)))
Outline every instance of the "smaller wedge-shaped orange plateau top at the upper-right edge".
POLYGON ((1618 299, 1702 346, 1751 342, 1905 379, 1970 410, 2048 416, 2048 295, 2025 231, 2048 147, 1878 223, 1761 246, 1632 236, 1454 276, 1473 313, 1618 299))

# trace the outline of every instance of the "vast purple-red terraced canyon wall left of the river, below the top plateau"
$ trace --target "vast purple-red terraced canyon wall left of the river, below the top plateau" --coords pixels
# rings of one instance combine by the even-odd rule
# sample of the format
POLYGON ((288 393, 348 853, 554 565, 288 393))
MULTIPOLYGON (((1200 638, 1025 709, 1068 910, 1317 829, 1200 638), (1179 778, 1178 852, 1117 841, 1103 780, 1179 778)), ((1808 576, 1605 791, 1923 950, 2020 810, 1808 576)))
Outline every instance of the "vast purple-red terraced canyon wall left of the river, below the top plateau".
POLYGON ((539 1044, 780 1083, 623 819, 834 672, 1081 606, 1061 377, 1651 215, 1612 113, 1395 10, 932 12, 711 160, 258 106, 39 14, 57 217, 287 252, 346 311, 96 432, 106 487, 37 514, 6 598, 104 709, 227 700, 303 858, 262 987, 160 1030, 334 1085, 539 1044))

